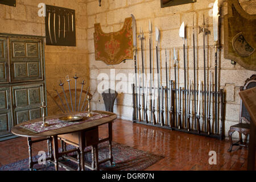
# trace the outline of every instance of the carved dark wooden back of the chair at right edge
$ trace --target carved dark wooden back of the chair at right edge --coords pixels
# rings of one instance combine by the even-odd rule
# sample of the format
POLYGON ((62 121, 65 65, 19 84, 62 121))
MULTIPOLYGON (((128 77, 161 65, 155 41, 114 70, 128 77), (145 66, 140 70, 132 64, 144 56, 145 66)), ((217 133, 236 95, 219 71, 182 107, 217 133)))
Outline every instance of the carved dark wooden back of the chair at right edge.
MULTIPOLYGON (((250 89, 256 86, 256 75, 252 75, 250 78, 247 78, 245 81, 245 85, 240 87, 240 91, 250 89)), ((246 123, 250 124, 251 117, 249 112, 247 111, 245 105, 243 104, 242 100, 240 100, 240 119, 239 122, 241 123, 245 121, 246 123)))

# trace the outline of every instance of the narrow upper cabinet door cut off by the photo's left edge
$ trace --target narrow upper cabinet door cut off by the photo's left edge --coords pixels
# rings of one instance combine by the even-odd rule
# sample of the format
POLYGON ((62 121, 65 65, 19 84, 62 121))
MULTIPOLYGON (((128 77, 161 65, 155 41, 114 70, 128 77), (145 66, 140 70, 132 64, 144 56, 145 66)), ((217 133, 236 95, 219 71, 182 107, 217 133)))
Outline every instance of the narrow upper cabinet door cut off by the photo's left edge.
POLYGON ((0 83, 9 82, 7 38, 0 36, 0 83))

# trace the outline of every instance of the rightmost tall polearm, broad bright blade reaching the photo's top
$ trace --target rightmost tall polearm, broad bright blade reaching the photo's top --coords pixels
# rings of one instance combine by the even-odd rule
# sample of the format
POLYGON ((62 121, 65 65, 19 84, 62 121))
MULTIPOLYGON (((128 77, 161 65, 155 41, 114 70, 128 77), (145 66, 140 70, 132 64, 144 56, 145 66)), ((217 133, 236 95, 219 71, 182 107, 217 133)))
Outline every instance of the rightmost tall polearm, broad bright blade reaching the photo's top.
POLYGON ((215 133, 217 133, 217 52, 218 52, 218 0, 213 5, 213 35, 215 42, 215 133))

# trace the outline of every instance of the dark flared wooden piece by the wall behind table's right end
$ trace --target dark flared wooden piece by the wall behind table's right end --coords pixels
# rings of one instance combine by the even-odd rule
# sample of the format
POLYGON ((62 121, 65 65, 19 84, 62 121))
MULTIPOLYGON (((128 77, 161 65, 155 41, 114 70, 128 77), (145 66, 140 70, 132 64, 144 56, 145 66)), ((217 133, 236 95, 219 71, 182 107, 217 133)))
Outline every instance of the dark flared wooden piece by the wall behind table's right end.
POLYGON ((117 98, 117 92, 112 89, 105 90, 102 94, 106 111, 113 112, 115 98, 117 98))

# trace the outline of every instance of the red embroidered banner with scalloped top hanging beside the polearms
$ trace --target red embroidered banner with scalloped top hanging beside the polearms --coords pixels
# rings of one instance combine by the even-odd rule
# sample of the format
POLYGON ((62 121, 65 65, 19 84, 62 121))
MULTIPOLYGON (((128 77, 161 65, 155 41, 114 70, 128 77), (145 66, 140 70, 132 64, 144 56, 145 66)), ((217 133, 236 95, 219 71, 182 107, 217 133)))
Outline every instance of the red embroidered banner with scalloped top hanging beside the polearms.
POLYGON ((106 64, 119 64, 125 59, 133 59, 132 18, 126 18, 121 30, 104 33, 100 23, 94 24, 95 60, 106 64))

